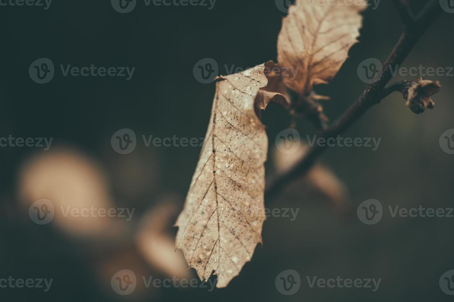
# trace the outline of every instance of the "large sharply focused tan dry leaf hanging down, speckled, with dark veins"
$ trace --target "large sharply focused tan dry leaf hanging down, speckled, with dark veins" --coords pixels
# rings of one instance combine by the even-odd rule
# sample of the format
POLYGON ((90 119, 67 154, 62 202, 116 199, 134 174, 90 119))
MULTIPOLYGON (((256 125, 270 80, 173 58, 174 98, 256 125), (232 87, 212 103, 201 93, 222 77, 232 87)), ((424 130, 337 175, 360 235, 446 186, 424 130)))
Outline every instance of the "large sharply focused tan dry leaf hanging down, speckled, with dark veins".
MULTIPOLYGON (((262 243, 268 148, 255 98, 265 64, 218 77, 205 144, 178 217, 176 246, 201 279, 226 287, 262 243)), ((262 94, 262 108, 273 98, 262 94)))

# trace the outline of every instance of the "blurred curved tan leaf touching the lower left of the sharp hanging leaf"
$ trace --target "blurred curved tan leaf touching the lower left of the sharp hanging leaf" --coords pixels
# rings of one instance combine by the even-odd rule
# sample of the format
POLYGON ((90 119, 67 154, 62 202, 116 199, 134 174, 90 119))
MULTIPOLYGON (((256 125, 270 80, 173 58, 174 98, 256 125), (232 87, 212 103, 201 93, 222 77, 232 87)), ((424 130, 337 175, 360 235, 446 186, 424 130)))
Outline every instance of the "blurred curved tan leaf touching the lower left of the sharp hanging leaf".
POLYGON ((175 242, 167 233, 176 213, 173 203, 162 204, 150 210, 143 218, 136 235, 139 252, 154 268, 169 277, 191 277, 181 252, 175 252, 175 242))

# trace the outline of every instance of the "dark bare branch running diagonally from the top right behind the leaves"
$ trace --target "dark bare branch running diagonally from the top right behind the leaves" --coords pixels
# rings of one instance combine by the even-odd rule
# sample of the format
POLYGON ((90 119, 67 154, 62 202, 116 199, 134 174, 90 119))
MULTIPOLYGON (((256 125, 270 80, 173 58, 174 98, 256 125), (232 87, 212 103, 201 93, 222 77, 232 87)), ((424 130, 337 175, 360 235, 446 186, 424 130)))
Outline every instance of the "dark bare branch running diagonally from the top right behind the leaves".
MULTIPOLYGON (((329 139, 342 134, 346 129, 350 127, 356 120, 358 120, 370 107, 379 104, 380 101, 388 96, 392 91, 398 91, 401 85, 405 83, 398 82, 390 86, 386 84, 390 81, 392 73, 390 67, 395 69, 397 65, 402 64, 405 58, 410 53, 411 49, 418 42, 424 31, 429 25, 436 19, 441 8, 438 0, 431 0, 427 3, 421 13, 416 17, 414 23, 411 26, 405 26, 405 29, 400 36, 399 41, 395 45, 395 48, 391 52, 390 56, 386 60, 383 66, 383 72, 377 74, 374 82, 370 84, 365 91, 359 96, 359 98, 346 110, 336 122, 329 127, 321 131, 319 137, 329 139)), ((408 8, 406 1, 402 0, 395 4, 398 7, 400 15, 408 18, 408 14, 402 10, 404 7, 408 8)), ((407 10, 408 12, 408 10, 407 10)), ((296 163, 289 171, 278 176, 265 190, 265 198, 268 199, 273 197, 275 194, 281 191, 288 183, 306 173, 316 159, 325 151, 326 147, 320 147, 314 145, 306 153, 305 157, 301 159, 299 163, 296 163)))

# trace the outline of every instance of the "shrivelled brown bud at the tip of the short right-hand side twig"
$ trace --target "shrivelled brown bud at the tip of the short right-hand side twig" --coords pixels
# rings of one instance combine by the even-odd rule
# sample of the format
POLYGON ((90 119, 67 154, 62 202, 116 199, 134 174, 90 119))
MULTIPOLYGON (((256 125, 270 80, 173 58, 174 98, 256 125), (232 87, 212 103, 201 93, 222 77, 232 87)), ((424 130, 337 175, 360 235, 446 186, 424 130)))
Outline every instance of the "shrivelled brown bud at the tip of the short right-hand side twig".
POLYGON ((439 81, 423 80, 422 77, 418 77, 415 84, 408 89, 406 105, 416 114, 423 113, 427 108, 433 109, 435 103, 430 96, 440 90, 439 81))

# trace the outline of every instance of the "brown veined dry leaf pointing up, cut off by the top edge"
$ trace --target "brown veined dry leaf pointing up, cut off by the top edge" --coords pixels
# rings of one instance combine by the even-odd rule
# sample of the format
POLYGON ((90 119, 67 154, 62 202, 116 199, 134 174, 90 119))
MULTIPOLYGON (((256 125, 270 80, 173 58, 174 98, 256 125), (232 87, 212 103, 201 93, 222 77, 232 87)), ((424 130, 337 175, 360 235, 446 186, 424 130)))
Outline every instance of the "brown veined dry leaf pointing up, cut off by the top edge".
POLYGON ((336 75, 356 42, 361 27, 359 14, 366 1, 296 0, 298 9, 282 21, 277 42, 281 67, 299 68, 296 78, 284 83, 300 95, 309 94, 314 84, 326 83, 336 75))

